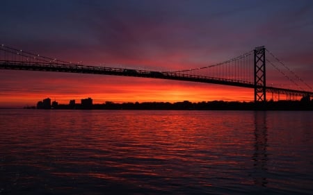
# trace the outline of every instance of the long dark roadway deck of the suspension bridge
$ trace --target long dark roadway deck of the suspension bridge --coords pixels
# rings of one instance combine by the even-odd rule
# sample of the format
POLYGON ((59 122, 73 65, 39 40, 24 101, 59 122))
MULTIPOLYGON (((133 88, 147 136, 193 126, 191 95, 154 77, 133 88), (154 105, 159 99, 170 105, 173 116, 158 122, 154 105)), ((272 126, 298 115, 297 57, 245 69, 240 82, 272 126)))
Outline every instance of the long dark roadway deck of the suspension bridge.
MULTIPOLYGON (((79 74, 104 74, 115 76, 136 76, 144 78, 161 78, 168 80, 184 80, 198 83, 214 83, 220 85, 230 85, 236 87, 255 88, 252 82, 242 80, 233 80, 225 78, 214 78, 207 76, 197 76, 191 74, 181 74, 170 71, 148 71, 140 69, 122 69, 115 67, 99 67, 99 66, 86 66, 86 65, 69 65, 55 62, 25 62, 25 61, 12 61, 0 60, 0 69, 10 70, 27 70, 27 71, 54 71, 54 72, 67 72, 79 74)), ((260 86, 261 87, 261 86, 260 86)), ((310 95, 313 92, 306 92, 301 90, 289 90, 278 87, 266 87, 266 92, 273 92, 276 94, 291 94, 297 96, 310 95)))

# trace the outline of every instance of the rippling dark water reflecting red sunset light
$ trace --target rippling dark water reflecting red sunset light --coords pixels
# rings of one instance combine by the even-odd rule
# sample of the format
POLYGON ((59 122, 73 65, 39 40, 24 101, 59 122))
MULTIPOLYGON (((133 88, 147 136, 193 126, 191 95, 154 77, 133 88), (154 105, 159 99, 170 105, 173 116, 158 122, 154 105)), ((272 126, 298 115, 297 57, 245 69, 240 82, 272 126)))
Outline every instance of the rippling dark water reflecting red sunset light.
POLYGON ((312 194, 312 114, 0 110, 0 194, 312 194))

